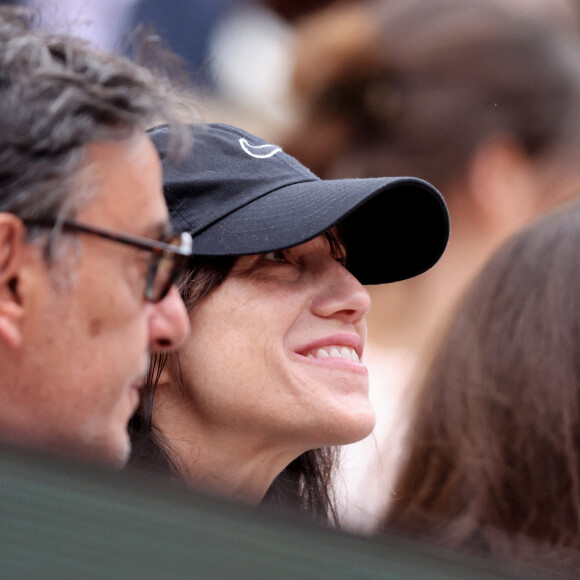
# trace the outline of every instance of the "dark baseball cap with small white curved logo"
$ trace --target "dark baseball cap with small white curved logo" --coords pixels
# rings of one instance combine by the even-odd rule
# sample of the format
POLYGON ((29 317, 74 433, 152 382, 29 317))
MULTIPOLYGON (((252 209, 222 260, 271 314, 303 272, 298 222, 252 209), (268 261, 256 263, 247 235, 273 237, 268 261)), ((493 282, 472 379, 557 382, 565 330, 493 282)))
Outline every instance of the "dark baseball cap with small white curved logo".
POLYGON ((362 284, 417 276, 443 254, 449 214, 441 194, 414 177, 321 180, 277 145, 220 123, 191 126, 179 163, 169 129, 149 135, 163 165, 176 231, 193 255, 261 254, 307 242, 340 224, 346 267, 362 284))

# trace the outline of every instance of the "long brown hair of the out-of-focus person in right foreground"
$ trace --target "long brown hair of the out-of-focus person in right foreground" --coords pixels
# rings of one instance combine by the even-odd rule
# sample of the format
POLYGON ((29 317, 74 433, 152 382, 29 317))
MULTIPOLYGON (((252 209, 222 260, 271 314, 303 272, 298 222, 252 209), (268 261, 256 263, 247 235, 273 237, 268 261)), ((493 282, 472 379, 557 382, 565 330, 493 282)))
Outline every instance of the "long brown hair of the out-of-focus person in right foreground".
POLYGON ((383 521, 580 571, 580 204, 495 254, 417 393, 383 521))

